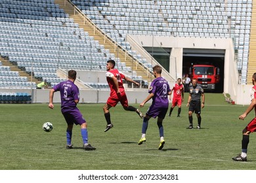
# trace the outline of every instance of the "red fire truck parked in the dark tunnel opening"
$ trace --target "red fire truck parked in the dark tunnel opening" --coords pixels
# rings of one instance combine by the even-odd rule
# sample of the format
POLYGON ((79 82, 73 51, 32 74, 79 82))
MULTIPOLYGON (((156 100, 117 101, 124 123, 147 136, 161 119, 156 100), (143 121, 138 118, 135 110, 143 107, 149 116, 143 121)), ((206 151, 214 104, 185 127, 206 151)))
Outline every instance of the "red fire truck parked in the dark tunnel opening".
POLYGON ((215 90, 220 82, 220 69, 214 65, 193 65, 190 67, 190 76, 198 80, 203 90, 215 90))

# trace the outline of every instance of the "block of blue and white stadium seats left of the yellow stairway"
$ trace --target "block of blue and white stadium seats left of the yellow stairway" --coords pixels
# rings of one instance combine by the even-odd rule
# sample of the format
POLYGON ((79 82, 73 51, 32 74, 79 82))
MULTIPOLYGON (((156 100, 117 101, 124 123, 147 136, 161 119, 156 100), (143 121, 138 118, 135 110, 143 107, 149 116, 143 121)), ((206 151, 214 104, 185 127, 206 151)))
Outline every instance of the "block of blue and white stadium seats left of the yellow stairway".
MULTIPOLYGON (((0 15, 1 56, 39 80, 49 78, 51 84, 50 78, 58 78, 59 67, 104 71, 109 58, 121 65, 119 58, 89 37, 53 0, 1 0, 0 15)), ((119 69, 131 71, 127 67, 119 69)), ((12 86, 17 84, 0 85, 12 86)))

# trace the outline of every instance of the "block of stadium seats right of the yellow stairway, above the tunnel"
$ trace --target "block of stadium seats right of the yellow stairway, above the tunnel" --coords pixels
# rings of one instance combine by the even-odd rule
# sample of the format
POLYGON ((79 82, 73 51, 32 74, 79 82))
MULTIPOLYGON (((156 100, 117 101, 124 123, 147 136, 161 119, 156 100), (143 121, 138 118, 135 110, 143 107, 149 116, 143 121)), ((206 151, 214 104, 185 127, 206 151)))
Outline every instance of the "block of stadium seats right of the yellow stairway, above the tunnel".
MULTIPOLYGON (((72 0, 124 48, 126 34, 232 38, 238 70, 246 73, 252 0, 72 0)), ((246 80, 246 75, 242 75, 246 80)))

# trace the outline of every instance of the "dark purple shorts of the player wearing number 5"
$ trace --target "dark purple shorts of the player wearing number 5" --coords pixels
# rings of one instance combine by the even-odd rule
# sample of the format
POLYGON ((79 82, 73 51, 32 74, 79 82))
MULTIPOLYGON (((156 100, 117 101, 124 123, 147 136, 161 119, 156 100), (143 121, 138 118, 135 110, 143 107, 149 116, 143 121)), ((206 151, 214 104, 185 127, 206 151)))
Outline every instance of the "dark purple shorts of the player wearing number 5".
POLYGON ((81 125, 86 123, 85 119, 83 118, 83 115, 81 114, 78 108, 62 110, 62 114, 68 125, 81 125))

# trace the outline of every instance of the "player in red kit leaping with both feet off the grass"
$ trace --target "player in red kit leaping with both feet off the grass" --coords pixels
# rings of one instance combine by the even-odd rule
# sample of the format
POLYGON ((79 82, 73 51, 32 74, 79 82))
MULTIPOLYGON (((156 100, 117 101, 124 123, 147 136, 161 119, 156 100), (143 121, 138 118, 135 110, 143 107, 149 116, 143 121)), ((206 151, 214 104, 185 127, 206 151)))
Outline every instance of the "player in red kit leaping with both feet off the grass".
POLYGON ((106 129, 104 130, 105 132, 114 127, 110 120, 110 108, 116 107, 118 102, 121 103, 125 110, 137 112, 140 118, 143 118, 143 114, 140 112, 139 108, 128 105, 125 89, 123 88, 123 79, 129 82, 133 82, 137 86, 140 86, 140 84, 131 78, 128 78, 127 76, 119 73, 119 71, 115 69, 115 65, 116 62, 112 59, 108 60, 106 63, 106 80, 108 82, 108 86, 110 86, 110 97, 108 97, 108 101, 103 107, 104 116, 107 122, 106 129))

